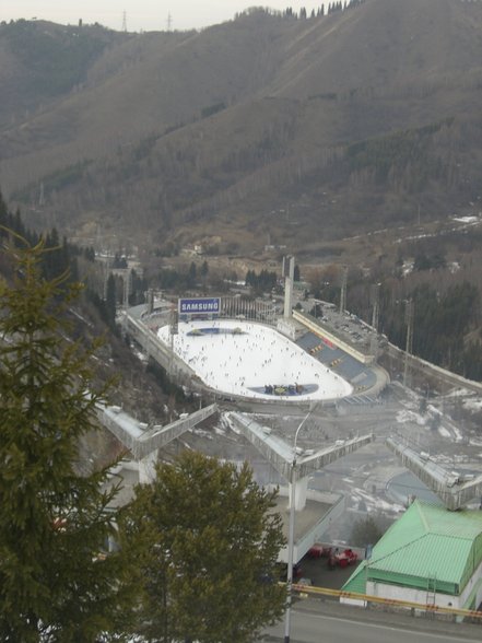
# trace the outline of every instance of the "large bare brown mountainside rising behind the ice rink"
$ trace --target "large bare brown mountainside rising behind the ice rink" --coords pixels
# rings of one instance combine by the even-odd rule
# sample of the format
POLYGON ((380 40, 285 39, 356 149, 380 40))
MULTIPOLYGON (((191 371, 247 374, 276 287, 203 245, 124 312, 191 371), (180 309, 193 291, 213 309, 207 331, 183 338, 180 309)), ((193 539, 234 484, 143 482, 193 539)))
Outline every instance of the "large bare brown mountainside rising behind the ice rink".
POLYGON ((447 217, 482 194, 481 33, 480 2, 366 0, 130 36, 0 132, 0 180, 20 204, 43 183, 38 221, 154 246, 298 252, 447 217))

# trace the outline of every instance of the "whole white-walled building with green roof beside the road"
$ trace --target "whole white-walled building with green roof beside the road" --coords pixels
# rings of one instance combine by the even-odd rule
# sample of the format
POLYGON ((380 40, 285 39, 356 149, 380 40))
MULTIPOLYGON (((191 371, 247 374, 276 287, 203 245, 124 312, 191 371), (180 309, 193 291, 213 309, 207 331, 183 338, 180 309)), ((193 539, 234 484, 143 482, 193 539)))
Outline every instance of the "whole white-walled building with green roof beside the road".
POLYGON ((477 609, 482 601, 482 511, 450 512, 415 500, 342 589, 477 609))

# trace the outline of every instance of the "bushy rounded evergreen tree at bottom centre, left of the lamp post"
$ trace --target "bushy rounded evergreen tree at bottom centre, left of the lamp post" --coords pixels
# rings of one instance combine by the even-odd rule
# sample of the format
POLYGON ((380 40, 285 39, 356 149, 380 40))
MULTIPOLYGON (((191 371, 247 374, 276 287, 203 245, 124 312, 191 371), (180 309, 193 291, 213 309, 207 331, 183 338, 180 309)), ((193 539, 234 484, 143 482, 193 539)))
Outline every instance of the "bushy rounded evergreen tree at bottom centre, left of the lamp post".
POLYGON ((281 616, 285 588, 271 582, 283 545, 274 494, 245 464, 185 452, 157 466, 121 521, 145 592, 136 631, 148 641, 248 643, 281 616))

